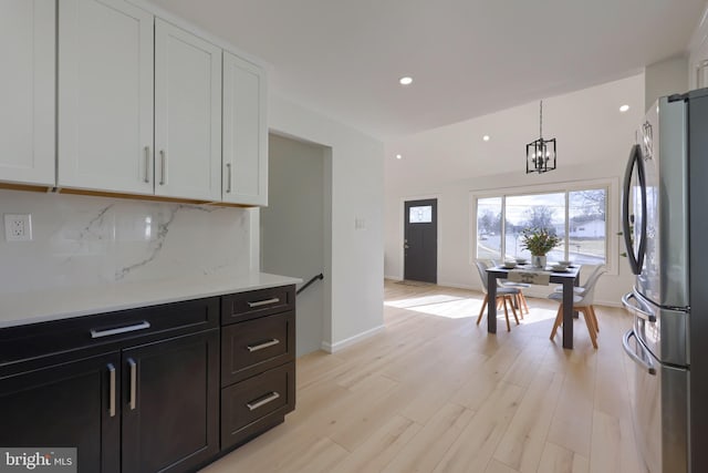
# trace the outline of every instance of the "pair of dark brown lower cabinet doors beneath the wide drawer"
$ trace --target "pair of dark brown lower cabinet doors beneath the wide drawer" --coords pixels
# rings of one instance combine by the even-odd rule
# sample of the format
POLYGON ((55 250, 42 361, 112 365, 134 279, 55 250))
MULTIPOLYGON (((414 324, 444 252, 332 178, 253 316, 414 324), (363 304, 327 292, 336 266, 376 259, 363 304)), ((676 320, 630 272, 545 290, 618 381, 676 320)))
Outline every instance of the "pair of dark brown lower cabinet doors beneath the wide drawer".
POLYGON ((219 453, 219 356, 211 329, 0 377, 0 446, 76 448, 82 473, 194 471, 219 453))

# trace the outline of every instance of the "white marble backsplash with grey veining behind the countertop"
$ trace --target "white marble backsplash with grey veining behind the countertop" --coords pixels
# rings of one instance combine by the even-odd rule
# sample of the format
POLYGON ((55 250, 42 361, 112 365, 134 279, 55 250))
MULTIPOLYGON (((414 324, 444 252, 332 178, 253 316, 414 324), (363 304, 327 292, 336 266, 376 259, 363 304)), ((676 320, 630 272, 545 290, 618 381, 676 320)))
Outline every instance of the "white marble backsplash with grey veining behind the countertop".
POLYGON ((32 240, 0 234, 0 294, 250 269, 243 208, 0 191, 31 214, 32 240))

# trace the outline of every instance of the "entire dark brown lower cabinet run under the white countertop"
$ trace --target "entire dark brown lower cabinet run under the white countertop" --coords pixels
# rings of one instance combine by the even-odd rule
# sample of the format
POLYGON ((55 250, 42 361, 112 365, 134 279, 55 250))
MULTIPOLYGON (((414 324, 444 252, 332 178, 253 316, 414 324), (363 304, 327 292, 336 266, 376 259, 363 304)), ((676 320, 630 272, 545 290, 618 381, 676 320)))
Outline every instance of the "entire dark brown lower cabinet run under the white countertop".
POLYGON ((0 446, 194 472, 294 409, 294 304, 291 285, 1 328, 0 446))

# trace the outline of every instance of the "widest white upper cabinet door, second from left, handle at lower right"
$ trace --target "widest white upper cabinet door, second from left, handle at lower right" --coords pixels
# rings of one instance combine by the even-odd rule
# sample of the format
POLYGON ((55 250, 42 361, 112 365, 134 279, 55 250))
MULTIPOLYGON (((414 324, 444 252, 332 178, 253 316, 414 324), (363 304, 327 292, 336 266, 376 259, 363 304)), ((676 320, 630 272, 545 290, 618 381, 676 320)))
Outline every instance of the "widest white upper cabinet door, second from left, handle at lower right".
POLYGON ((153 16, 59 2, 58 185, 153 194, 153 16))

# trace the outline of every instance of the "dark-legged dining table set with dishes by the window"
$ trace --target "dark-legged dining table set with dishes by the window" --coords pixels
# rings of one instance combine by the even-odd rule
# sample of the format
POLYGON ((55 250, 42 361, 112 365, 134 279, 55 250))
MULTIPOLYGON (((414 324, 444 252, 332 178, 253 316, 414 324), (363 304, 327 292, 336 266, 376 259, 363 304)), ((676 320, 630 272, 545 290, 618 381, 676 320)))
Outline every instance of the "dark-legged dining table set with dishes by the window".
MULTIPOLYGON (((573 349, 573 287, 580 282, 580 266, 571 266, 564 271, 532 268, 530 265, 517 266, 523 271, 543 271, 550 275, 550 282, 563 286, 563 348, 573 349)), ((487 268, 487 332, 497 333, 497 279, 508 279, 514 269, 494 266, 487 268)))

